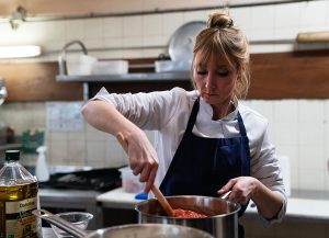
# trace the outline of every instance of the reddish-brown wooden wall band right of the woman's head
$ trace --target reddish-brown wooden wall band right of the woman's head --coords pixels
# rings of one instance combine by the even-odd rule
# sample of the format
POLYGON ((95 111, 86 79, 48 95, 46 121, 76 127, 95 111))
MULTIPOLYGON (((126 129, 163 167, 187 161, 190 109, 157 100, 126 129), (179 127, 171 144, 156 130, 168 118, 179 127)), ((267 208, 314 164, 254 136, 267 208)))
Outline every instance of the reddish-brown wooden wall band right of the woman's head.
POLYGON ((329 50, 254 54, 248 99, 328 99, 329 50))

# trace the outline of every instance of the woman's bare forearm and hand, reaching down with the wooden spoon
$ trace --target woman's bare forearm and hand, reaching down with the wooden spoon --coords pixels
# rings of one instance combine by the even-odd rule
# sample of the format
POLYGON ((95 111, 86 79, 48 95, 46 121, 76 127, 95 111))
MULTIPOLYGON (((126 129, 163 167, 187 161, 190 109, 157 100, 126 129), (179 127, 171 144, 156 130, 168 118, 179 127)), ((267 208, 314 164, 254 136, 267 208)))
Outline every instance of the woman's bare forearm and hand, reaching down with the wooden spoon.
POLYGON ((120 132, 128 145, 129 166, 139 181, 146 182, 145 192, 149 192, 158 170, 157 152, 145 133, 123 116, 114 105, 103 101, 90 101, 82 109, 87 122, 93 127, 114 136, 120 132))

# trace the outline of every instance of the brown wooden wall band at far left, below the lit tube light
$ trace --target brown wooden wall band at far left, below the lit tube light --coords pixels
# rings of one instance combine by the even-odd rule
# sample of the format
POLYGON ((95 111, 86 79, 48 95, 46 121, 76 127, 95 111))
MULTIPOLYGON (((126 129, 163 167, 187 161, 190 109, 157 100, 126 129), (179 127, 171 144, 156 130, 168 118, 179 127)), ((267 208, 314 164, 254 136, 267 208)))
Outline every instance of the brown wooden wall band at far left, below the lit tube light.
POLYGON ((79 101, 82 84, 57 82, 57 63, 0 64, 0 77, 8 90, 7 102, 26 101, 79 101))

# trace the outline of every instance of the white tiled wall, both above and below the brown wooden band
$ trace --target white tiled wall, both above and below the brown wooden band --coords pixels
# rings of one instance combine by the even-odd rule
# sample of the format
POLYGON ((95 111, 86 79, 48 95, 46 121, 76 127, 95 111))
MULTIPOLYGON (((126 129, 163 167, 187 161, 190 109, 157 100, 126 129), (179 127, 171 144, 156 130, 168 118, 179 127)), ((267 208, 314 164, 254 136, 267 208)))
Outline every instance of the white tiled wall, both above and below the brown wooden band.
MULTIPOLYGON (((8 23, 0 23, 0 45, 42 45, 44 55, 34 60, 57 60, 58 50, 76 38, 86 44, 90 55, 99 58, 157 57, 167 54, 168 42, 179 26, 206 20, 211 12, 25 22, 18 31, 12 31, 8 23)), ((230 14, 251 42, 294 39, 298 32, 329 27, 329 1, 234 8, 230 14)), ((328 45, 251 44, 251 53, 305 48, 328 48, 328 45)), ((291 158, 292 186, 329 190, 329 95, 328 100, 252 100, 246 103, 269 117, 277 154, 291 158)), ((5 103, 0 107, 0 120, 13 125, 18 134, 27 128, 45 128, 45 107, 43 102, 5 103)), ((127 162, 114 137, 87 124, 82 132, 76 133, 49 133, 46 128, 46 144, 52 165, 115 167, 127 162)), ((34 158, 26 160, 33 162, 34 158)))

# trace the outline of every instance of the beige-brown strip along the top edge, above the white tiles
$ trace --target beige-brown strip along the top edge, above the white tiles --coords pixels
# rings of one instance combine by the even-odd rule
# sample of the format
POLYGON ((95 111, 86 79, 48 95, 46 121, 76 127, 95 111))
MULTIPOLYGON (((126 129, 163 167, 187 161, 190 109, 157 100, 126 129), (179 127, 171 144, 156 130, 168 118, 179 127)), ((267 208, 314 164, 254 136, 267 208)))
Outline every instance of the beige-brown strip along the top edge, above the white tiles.
POLYGON ((18 7, 23 7, 27 16, 56 16, 77 14, 124 14, 161 11, 188 11, 196 9, 218 9, 226 5, 273 4, 294 2, 293 0, 0 0, 0 15, 9 16, 18 7))

